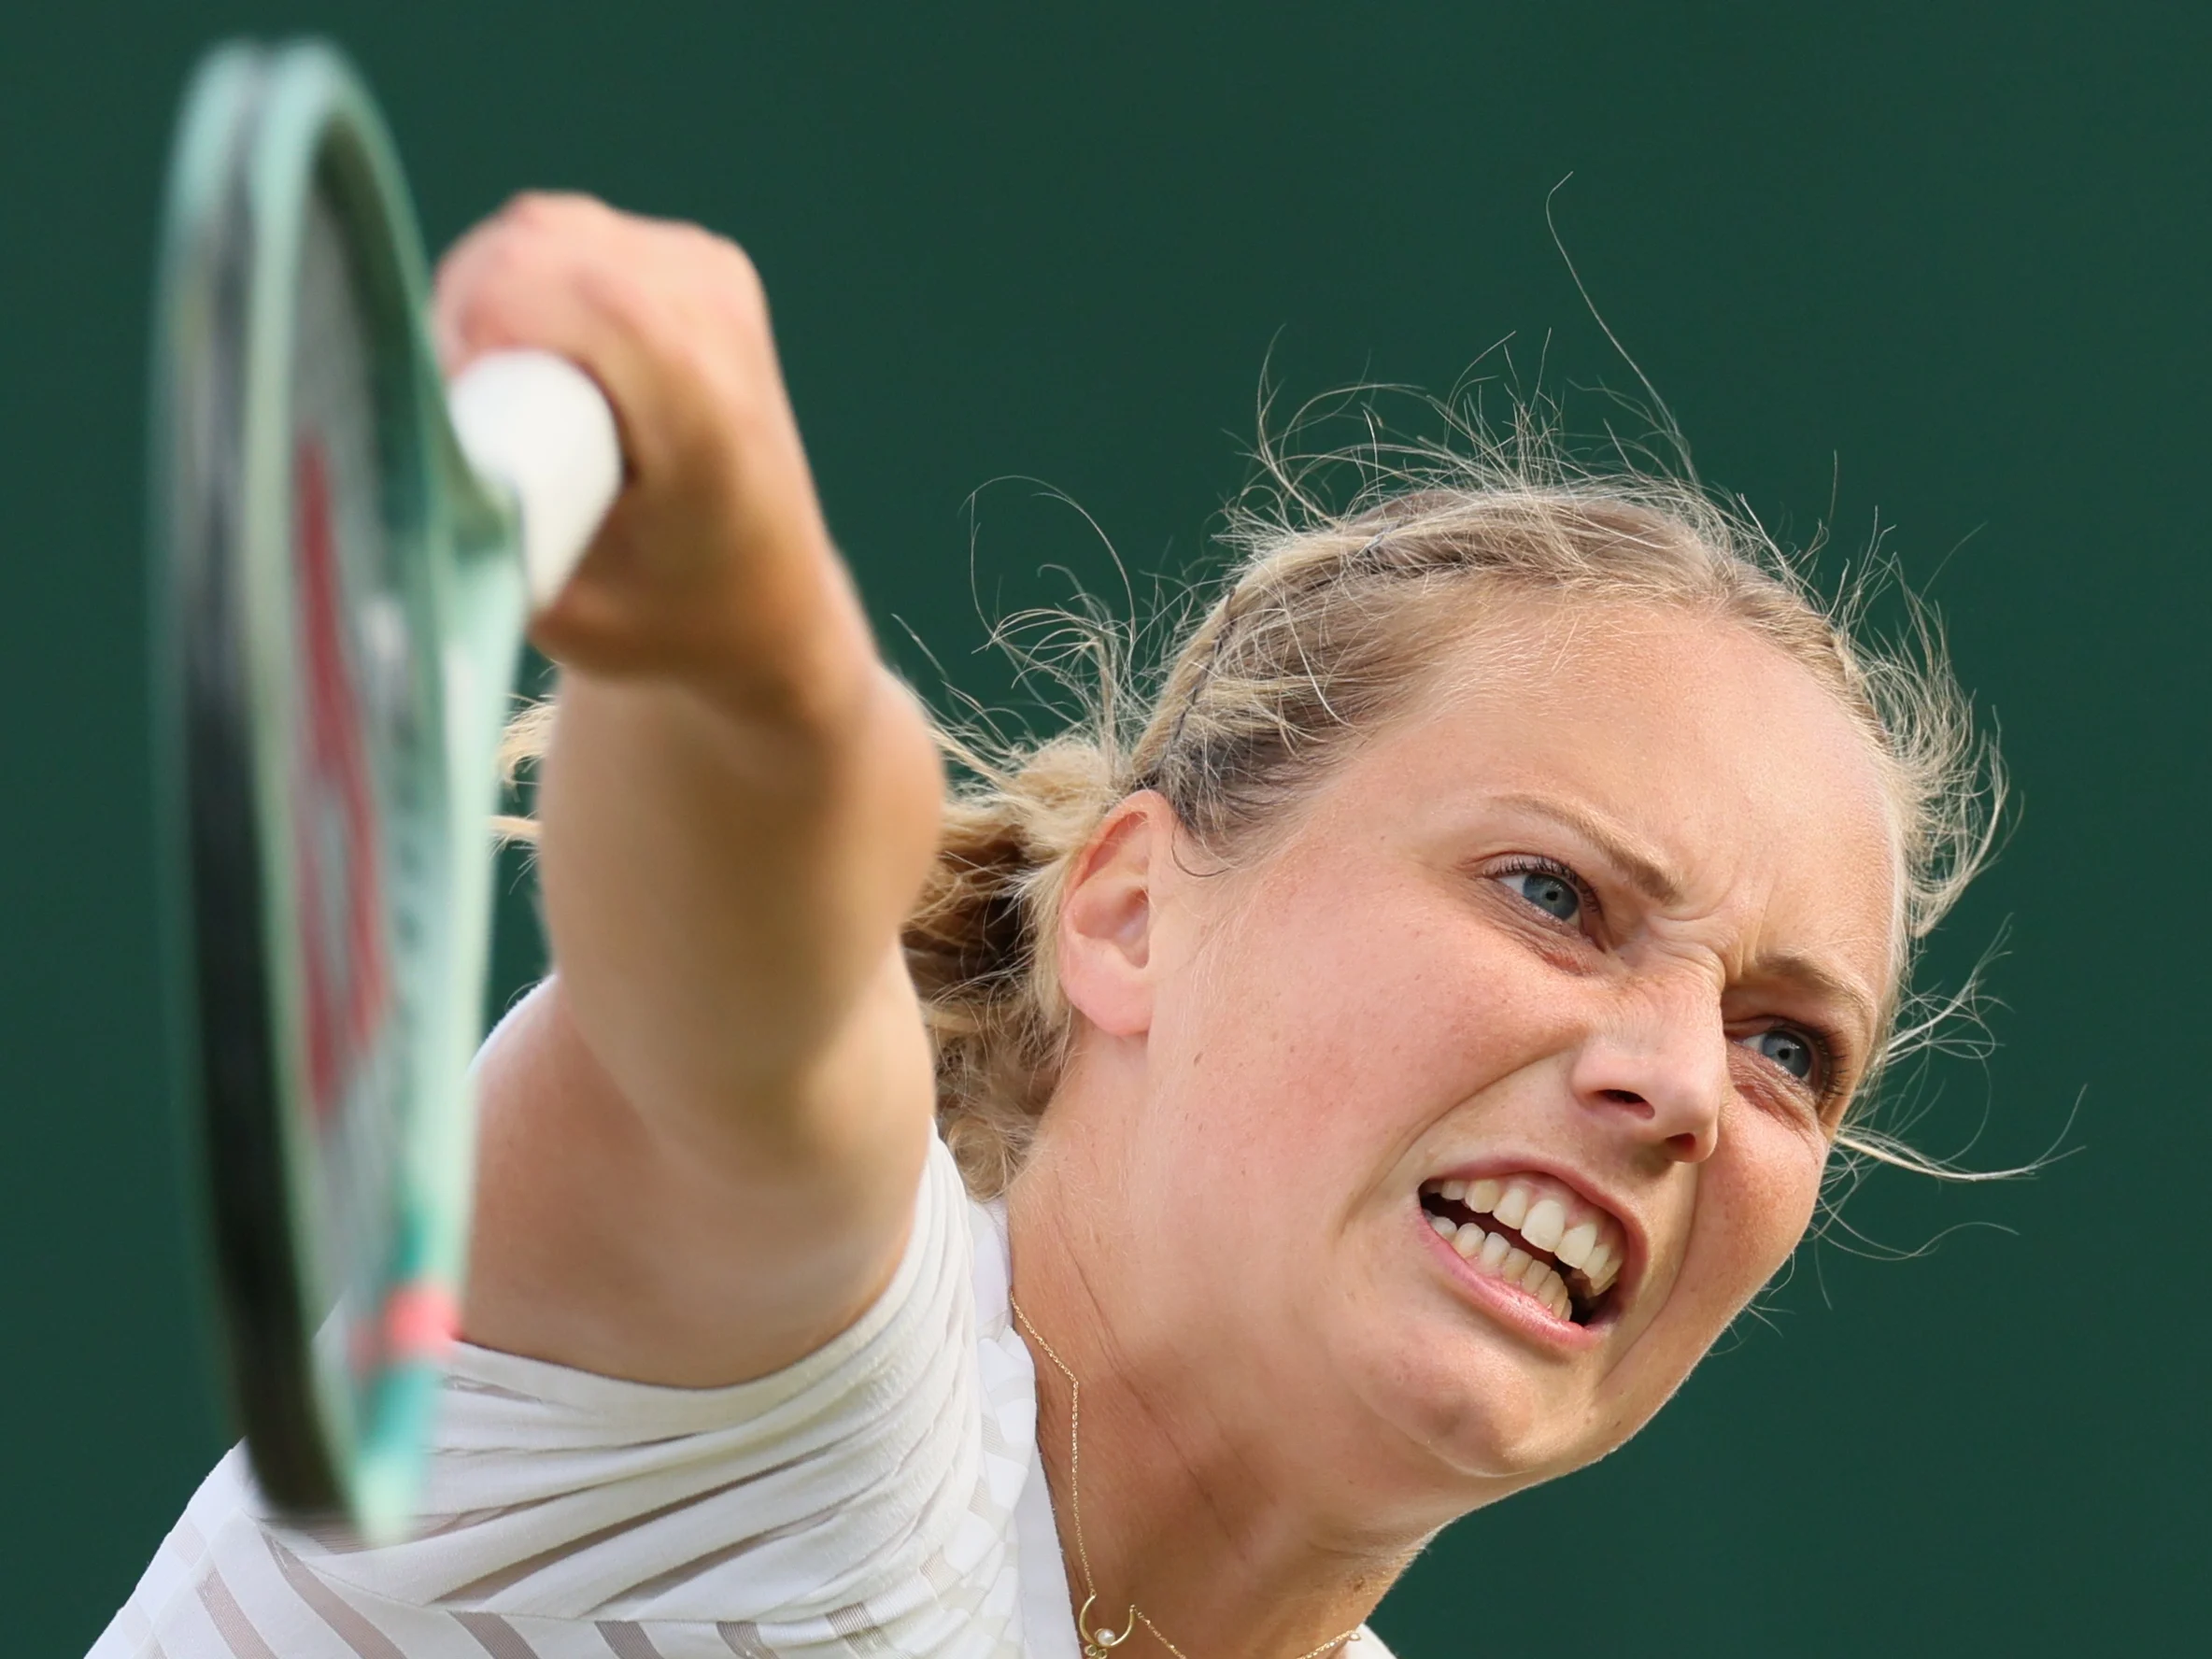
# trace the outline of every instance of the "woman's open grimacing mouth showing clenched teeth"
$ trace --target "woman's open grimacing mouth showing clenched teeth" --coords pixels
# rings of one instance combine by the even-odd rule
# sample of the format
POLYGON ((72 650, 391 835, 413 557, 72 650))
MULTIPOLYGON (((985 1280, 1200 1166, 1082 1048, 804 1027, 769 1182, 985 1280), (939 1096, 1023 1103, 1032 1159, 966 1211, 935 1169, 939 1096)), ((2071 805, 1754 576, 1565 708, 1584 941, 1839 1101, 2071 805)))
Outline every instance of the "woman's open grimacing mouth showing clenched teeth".
POLYGON ((1573 1325, 1606 1310, 1628 1259, 1621 1223, 1544 1175, 1422 1181, 1420 1208, 1469 1267, 1573 1325))

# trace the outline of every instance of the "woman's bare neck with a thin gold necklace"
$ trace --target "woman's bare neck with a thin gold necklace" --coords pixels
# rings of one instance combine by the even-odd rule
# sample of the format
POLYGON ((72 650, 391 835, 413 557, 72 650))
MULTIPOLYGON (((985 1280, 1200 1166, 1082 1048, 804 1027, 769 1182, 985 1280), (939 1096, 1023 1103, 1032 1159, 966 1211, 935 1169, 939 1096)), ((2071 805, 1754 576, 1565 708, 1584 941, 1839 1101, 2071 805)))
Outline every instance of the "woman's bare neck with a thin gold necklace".
POLYGON ((1296 1469, 1294 1447, 1254 1442, 1203 1360, 1117 1321, 1084 1263, 1113 1261, 1121 1241, 1093 1237, 1104 1212, 1053 1170, 1035 1159, 1009 1194, 1013 1296, 1068 1586, 1077 1606, 1097 1593, 1091 1628, 1121 1630, 1135 1606, 1128 1652, 1157 1659, 1161 1639, 1186 1659, 1296 1659, 1354 1630, 1420 1537, 1323 1513, 1310 1493, 1327 1482, 1296 1469), (1079 1420, 1053 1354, 1082 1389, 1079 1420))

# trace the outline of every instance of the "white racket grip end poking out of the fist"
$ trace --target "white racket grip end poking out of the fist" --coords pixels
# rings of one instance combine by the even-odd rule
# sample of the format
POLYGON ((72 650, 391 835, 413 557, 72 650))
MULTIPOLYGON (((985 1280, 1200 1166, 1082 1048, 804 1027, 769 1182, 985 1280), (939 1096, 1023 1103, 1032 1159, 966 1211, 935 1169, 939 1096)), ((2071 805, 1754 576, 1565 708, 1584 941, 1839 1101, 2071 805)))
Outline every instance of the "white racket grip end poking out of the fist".
POLYGON ((622 491, 615 411, 588 374, 551 352, 478 358, 447 403, 469 465, 515 493, 531 611, 544 611, 622 491))

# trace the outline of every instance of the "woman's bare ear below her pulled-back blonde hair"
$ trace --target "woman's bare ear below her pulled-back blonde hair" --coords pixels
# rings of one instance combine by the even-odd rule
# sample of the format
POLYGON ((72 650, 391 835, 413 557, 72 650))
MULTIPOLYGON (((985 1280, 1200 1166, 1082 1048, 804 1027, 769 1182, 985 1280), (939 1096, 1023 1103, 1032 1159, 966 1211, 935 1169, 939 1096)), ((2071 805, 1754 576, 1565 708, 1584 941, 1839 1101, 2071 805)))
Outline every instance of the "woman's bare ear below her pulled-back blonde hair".
POLYGON ((1099 1031, 1152 1026, 1152 927, 1175 860, 1175 810, 1146 790, 1099 823, 1060 900, 1060 989, 1099 1031))

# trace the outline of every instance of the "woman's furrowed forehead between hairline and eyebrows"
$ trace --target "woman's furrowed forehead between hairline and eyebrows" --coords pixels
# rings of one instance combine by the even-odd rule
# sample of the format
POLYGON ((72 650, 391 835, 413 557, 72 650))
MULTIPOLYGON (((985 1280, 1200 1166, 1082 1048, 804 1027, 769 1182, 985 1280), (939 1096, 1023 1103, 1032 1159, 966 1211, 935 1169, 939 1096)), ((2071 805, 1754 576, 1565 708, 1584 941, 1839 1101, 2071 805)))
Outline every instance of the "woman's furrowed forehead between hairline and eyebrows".
POLYGON ((1681 611, 1493 611, 1431 692, 1332 787, 1407 830, 1551 801, 1617 832, 1756 953, 1818 953, 1887 989, 1896 841, 1865 732, 1809 670, 1681 611))

